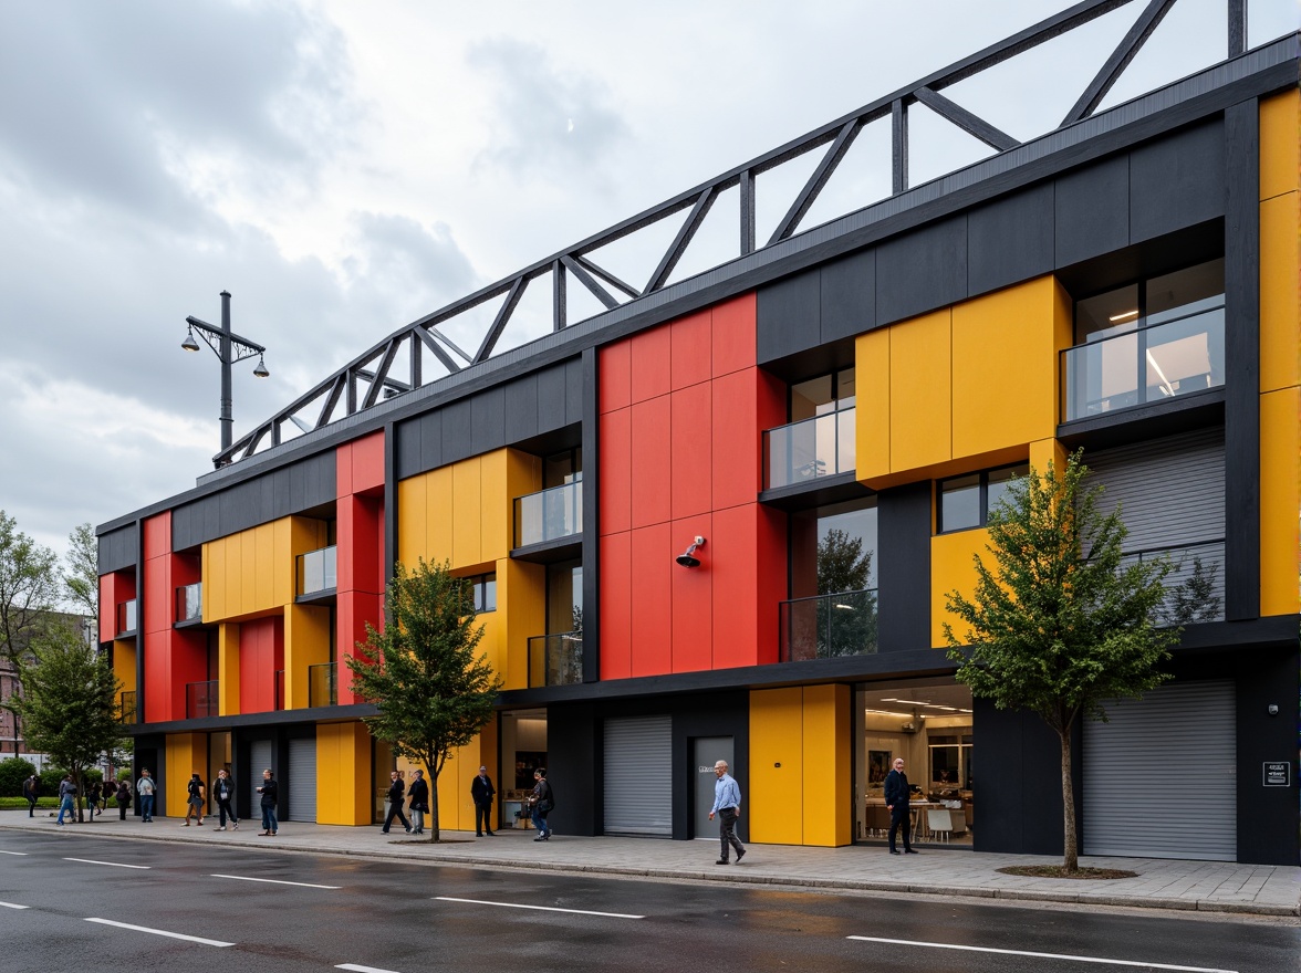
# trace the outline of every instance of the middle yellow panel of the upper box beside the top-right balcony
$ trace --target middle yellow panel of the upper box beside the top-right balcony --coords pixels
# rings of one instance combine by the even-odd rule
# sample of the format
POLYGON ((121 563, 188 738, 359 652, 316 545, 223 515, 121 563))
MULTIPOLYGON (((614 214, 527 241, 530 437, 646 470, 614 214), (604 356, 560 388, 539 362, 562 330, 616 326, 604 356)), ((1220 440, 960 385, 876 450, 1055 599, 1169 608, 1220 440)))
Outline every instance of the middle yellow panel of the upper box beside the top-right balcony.
POLYGON ((890 468, 952 458, 950 308, 890 328, 890 468))

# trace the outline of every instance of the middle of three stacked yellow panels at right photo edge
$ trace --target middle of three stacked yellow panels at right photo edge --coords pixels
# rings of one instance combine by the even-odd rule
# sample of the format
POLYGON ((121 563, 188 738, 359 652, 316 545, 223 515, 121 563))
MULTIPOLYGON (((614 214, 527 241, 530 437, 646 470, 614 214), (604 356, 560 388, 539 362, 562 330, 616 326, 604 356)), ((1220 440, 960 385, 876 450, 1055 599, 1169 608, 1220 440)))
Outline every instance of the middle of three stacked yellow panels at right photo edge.
POLYGON ((1301 384, 1301 193, 1261 203, 1261 392, 1301 384))

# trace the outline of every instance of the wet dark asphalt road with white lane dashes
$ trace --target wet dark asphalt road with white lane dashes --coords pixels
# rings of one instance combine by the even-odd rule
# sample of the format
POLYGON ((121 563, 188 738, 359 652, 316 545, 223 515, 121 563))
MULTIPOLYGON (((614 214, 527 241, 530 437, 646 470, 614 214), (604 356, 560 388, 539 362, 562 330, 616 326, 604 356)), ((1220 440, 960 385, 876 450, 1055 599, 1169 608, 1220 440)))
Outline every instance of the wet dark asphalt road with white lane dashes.
POLYGON ((109 965, 1292 973, 1301 927, 0 833, 0 972, 109 965))

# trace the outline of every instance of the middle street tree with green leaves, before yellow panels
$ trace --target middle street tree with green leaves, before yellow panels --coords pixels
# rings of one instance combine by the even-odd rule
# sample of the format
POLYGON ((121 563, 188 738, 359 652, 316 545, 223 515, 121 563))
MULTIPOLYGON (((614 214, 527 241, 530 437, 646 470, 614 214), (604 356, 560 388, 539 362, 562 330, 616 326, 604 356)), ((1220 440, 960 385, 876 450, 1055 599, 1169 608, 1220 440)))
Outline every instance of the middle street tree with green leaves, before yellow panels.
POLYGON ((385 610, 384 631, 367 623, 356 657, 343 661, 353 692, 379 709, 364 718, 371 734, 433 778, 429 840, 437 842, 438 775, 450 753, 492 719, 501 679, 485 656, 475 657, 483 626, 475 627, 472 588, 448 565, 396 565, 385 610))

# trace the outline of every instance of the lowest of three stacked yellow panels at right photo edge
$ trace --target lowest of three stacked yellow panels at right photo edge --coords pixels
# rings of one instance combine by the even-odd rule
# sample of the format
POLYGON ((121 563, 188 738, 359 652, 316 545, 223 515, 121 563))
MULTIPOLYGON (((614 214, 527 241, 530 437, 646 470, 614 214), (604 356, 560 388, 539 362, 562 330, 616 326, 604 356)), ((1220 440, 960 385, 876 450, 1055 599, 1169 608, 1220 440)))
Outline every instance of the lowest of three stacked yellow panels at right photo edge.
POLYGON ((1301 389, 1261 395, 1261 615, 1298 610, 1301 389))

